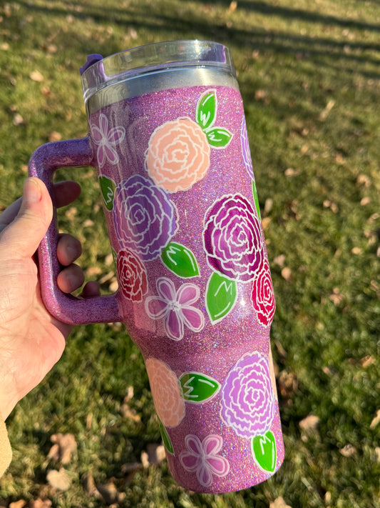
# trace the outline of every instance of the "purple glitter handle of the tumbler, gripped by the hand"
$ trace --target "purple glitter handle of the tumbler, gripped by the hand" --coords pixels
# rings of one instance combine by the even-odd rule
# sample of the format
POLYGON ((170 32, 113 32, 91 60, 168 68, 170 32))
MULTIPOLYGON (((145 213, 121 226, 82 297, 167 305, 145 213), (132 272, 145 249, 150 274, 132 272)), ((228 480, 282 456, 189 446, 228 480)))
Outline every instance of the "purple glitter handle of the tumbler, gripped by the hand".
MULTIPOLYGON (((88 136, 39 146, 29 160, 29 176, 41 179, 53 199, 53 173, 58 167, 65 166, 93 166, 93 152, 88 136)), ((121 321, 119 292, 80 299, 63 293, 58 288, 57 277, 61 266, 56 254, 58 225, 55 206, 53 210, 53 220, 38 247, 41 296, 48 312, 68 324, 121 321)))

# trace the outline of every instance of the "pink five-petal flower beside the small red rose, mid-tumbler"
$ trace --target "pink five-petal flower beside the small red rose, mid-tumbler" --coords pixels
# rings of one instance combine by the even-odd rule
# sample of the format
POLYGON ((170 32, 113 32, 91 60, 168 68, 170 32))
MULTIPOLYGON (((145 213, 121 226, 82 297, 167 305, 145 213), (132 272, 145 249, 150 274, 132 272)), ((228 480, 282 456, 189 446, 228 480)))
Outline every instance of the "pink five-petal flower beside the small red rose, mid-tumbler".
POLYGON ((205 326, 205 317, 193 306, 200 297, 195 284, 182 284, 178 291, 173 281, 160 277, 156 282, 158 295, 145 299, 145 311, 150 319, 163 319, 165 333, 170 339, 182 340, 185 328, 200 332, 205 326))

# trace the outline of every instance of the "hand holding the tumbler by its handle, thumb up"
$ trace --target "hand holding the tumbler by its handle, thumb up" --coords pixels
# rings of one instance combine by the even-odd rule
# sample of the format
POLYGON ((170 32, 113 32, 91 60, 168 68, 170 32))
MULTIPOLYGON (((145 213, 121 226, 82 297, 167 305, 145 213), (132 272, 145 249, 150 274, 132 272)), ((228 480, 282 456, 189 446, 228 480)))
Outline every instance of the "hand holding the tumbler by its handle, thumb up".
MULTIPOLYGON (((71 203, 81 192, 73 181, 54 186, 56 206, 71 203)), ((4 419, 17 402, 46 376, 65 347, 71 326, 48 313, 41 300, 34 254, 53 216, 53 206, 41 180, 29 178, 24 196, 0 214, 0 414, 4 419)), ((58 261, 66 267, 58 287, 71 293, 83 284, 83 272, 73 262, 80 242, 60 236, 58 261)), ((83 297, 98 295, 89 282, 83 297)))

